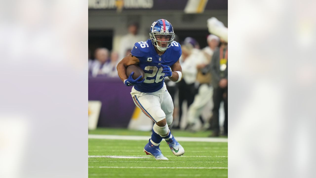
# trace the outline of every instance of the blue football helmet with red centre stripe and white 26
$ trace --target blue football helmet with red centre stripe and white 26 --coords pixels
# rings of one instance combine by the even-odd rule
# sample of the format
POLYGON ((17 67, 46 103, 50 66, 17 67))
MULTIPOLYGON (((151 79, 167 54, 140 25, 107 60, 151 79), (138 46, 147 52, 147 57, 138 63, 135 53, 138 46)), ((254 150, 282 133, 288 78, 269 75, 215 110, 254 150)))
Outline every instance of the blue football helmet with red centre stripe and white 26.
POLYGON ((170 48, 171 43, 174 39, 174 31, 173 27, 170 22, 164 19, 156 20, 153 24, 151 24, 149 36, 151 39, 151 42, 154 46, 157 47, 159 51, 166 51, 167 48, 170 48), (164 37, 167 37, 167 41, 159 41, 157 40, 155 35, 163 35, 164 37), (160 43, 158 43, 160 42, 160 43), (161 42, 167 42, 166 47, 162 47, 161 42))

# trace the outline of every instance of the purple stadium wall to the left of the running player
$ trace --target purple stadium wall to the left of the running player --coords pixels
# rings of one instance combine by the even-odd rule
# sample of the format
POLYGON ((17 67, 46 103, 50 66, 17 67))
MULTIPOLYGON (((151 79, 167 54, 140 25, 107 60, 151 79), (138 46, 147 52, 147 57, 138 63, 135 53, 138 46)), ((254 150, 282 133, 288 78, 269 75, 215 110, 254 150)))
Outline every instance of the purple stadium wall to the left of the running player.
POLYGON ((89 77, 88 100, 102 102, 98 127, 127 128, 135 109, 131 89, 119 78, 89 77))

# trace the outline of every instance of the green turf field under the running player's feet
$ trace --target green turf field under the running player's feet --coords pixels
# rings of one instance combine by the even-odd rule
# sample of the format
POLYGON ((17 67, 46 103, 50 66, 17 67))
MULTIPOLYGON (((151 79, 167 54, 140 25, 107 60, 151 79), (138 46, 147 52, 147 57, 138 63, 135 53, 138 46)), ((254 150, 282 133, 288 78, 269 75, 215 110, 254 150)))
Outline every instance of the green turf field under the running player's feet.
MULTIPOLYGON (((101 134, 100 132, 102 129, 94 131, 95 134, 101 134)), ((109 134, 106 131, 103 133, 109 134)), ((143 132, 128 130, 120 130, 119 133, 116 134, 143 134, 143 132)), ((93 133, 89 131, 89 134, 93 133)), ((147 135, 149 139, 150 134, 147 135)), ((173 135, 177 138, 176 134, 173 135)), ((184 135, 179 134, 181 137, 184 135)), ((227 142, 179 141, 185 149, 185 154, 177 157, 163 140, 160 149, 169 161, 157 161, 153 156, 146 155, 143 148, 147 143, 146 140, 90 138, 88 140, 89 177, 228 177, 227 142), (132 158, 122 158, 127 156, 132 158)))

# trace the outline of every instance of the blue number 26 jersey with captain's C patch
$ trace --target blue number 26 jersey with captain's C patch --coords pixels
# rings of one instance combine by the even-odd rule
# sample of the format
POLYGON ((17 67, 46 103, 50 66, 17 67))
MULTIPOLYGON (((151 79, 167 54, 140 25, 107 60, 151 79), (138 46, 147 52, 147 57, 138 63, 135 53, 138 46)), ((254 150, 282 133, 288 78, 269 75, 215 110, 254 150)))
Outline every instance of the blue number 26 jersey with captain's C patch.
POLYGON ((178 42, 173 41, 161 56, 155 51, 151 40, 140 41, 135 43, 131 54, 139 59, 138 66, 145 73, 145 81, 135 85, 134 88, 139 92, 156 92, 163 87, 164 75, 162 65, 171 67, 181 56, 181 46, 178 42))

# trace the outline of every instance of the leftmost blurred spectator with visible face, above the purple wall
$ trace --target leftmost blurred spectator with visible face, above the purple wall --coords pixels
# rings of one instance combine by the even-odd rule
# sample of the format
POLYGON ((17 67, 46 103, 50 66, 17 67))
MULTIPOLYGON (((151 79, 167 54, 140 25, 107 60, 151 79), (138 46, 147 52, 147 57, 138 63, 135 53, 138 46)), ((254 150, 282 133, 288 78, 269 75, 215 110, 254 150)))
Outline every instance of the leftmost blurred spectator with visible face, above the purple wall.
POLYGON ((106 74, 106 64, 109 62, 109 50, 107 48, 97 48, 94 56, 95 60, 91 63, 89 73, 94 77, 106 74))

